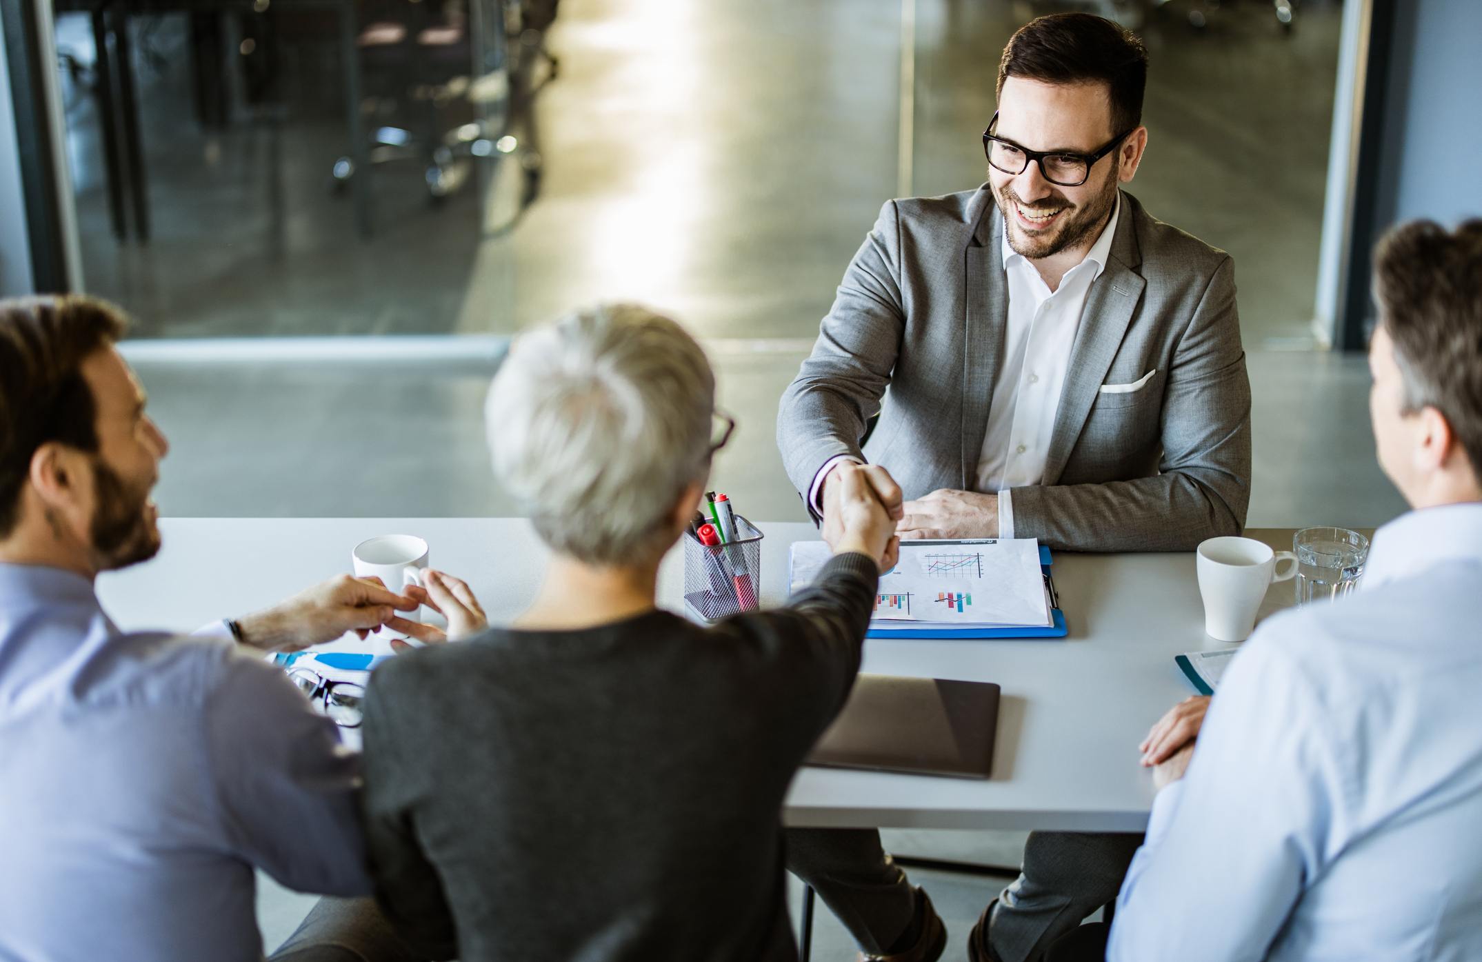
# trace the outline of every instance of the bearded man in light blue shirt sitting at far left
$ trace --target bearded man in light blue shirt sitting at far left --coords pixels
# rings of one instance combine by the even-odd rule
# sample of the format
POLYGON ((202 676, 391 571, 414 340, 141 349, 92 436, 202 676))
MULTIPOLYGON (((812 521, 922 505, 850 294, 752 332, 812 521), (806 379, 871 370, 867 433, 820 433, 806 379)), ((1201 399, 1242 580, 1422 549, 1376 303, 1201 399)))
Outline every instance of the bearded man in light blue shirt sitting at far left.
MULTIPOLYGON (((344 577, 224 637, 120 631, 93 580, 160 548, 167 451, 123 326, 87 298, 0 301, 0 961, 258 962, 255 869, 370 892, 359 759, 262 654, 425 599, 344 577)), ((274 959, 400 958, 378 922, 322 903, 274 959)))

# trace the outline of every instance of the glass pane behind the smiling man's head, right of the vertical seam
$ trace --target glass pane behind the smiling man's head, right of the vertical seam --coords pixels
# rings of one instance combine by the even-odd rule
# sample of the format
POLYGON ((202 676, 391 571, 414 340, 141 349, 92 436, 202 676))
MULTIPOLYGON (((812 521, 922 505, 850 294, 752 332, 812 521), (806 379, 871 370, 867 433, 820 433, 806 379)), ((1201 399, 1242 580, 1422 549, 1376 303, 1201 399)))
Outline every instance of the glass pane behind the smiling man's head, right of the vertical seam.
MULTIPOLYGON (((1235 258, 1248 350, 1317 345, 1313 326, 1343 6, 1337 0, 1106 0, 914 6, 910 190, 986 176, 999 52, 1030 16, 1110 15, 1149 52, 1149 145, 1126 187, 1153 216, 1235 258)), ((1323 332, 1325 335, 1325 332, 1323 332)))

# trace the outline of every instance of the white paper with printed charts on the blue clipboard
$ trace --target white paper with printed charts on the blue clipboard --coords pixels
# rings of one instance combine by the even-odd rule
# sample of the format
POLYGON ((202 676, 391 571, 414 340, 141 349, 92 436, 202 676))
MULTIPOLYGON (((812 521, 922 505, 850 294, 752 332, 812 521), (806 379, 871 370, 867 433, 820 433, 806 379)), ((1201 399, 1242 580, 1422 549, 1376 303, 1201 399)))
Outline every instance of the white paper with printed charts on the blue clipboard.
MULTIPOLYGON (((793 593, 812 584, 830 557, 823 541, 794 543, 793 593)), ((870 627, 1045 627, 1049 608, 1034 538, 903 541, 895 568, 880 575, 870 627)))

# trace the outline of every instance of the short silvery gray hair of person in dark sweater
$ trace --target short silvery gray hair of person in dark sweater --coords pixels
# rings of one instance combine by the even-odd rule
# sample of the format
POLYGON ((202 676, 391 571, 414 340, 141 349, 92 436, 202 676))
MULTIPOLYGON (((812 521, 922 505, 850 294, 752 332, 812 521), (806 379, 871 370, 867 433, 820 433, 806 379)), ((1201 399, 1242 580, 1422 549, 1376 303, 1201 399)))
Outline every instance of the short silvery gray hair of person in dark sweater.
POLYGON ((551 548, 651 560, 708 470, 714 397, 705 353, 668 317, 634 304, 568 314, 516 338, 489 385, 494 471, 551 548))

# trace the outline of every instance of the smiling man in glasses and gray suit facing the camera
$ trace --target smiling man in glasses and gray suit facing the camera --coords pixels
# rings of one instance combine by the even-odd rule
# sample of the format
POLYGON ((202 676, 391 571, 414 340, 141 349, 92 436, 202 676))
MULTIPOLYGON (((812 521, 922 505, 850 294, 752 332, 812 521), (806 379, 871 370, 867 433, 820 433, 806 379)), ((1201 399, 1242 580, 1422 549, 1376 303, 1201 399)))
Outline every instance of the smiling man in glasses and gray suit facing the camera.
MULTIPOLYGON (((1031 21, 999 65, 988 182, 882 208, 778 415, 788 476, 825 531, 831 473, 868 461, 910 498, 903 538, 1187 551, 1240 532, 1251 387, 1230 256, 1120 190, 1147 147, 1146 79, 1141 42, 1116 24, 1031 21)), ((1031 835, 972 959, 1039 958, 1116 895, 1137 842, 1031 835)), ((877 833, 790 843, 868 958, 931 958, 929 903, 877 833)))

